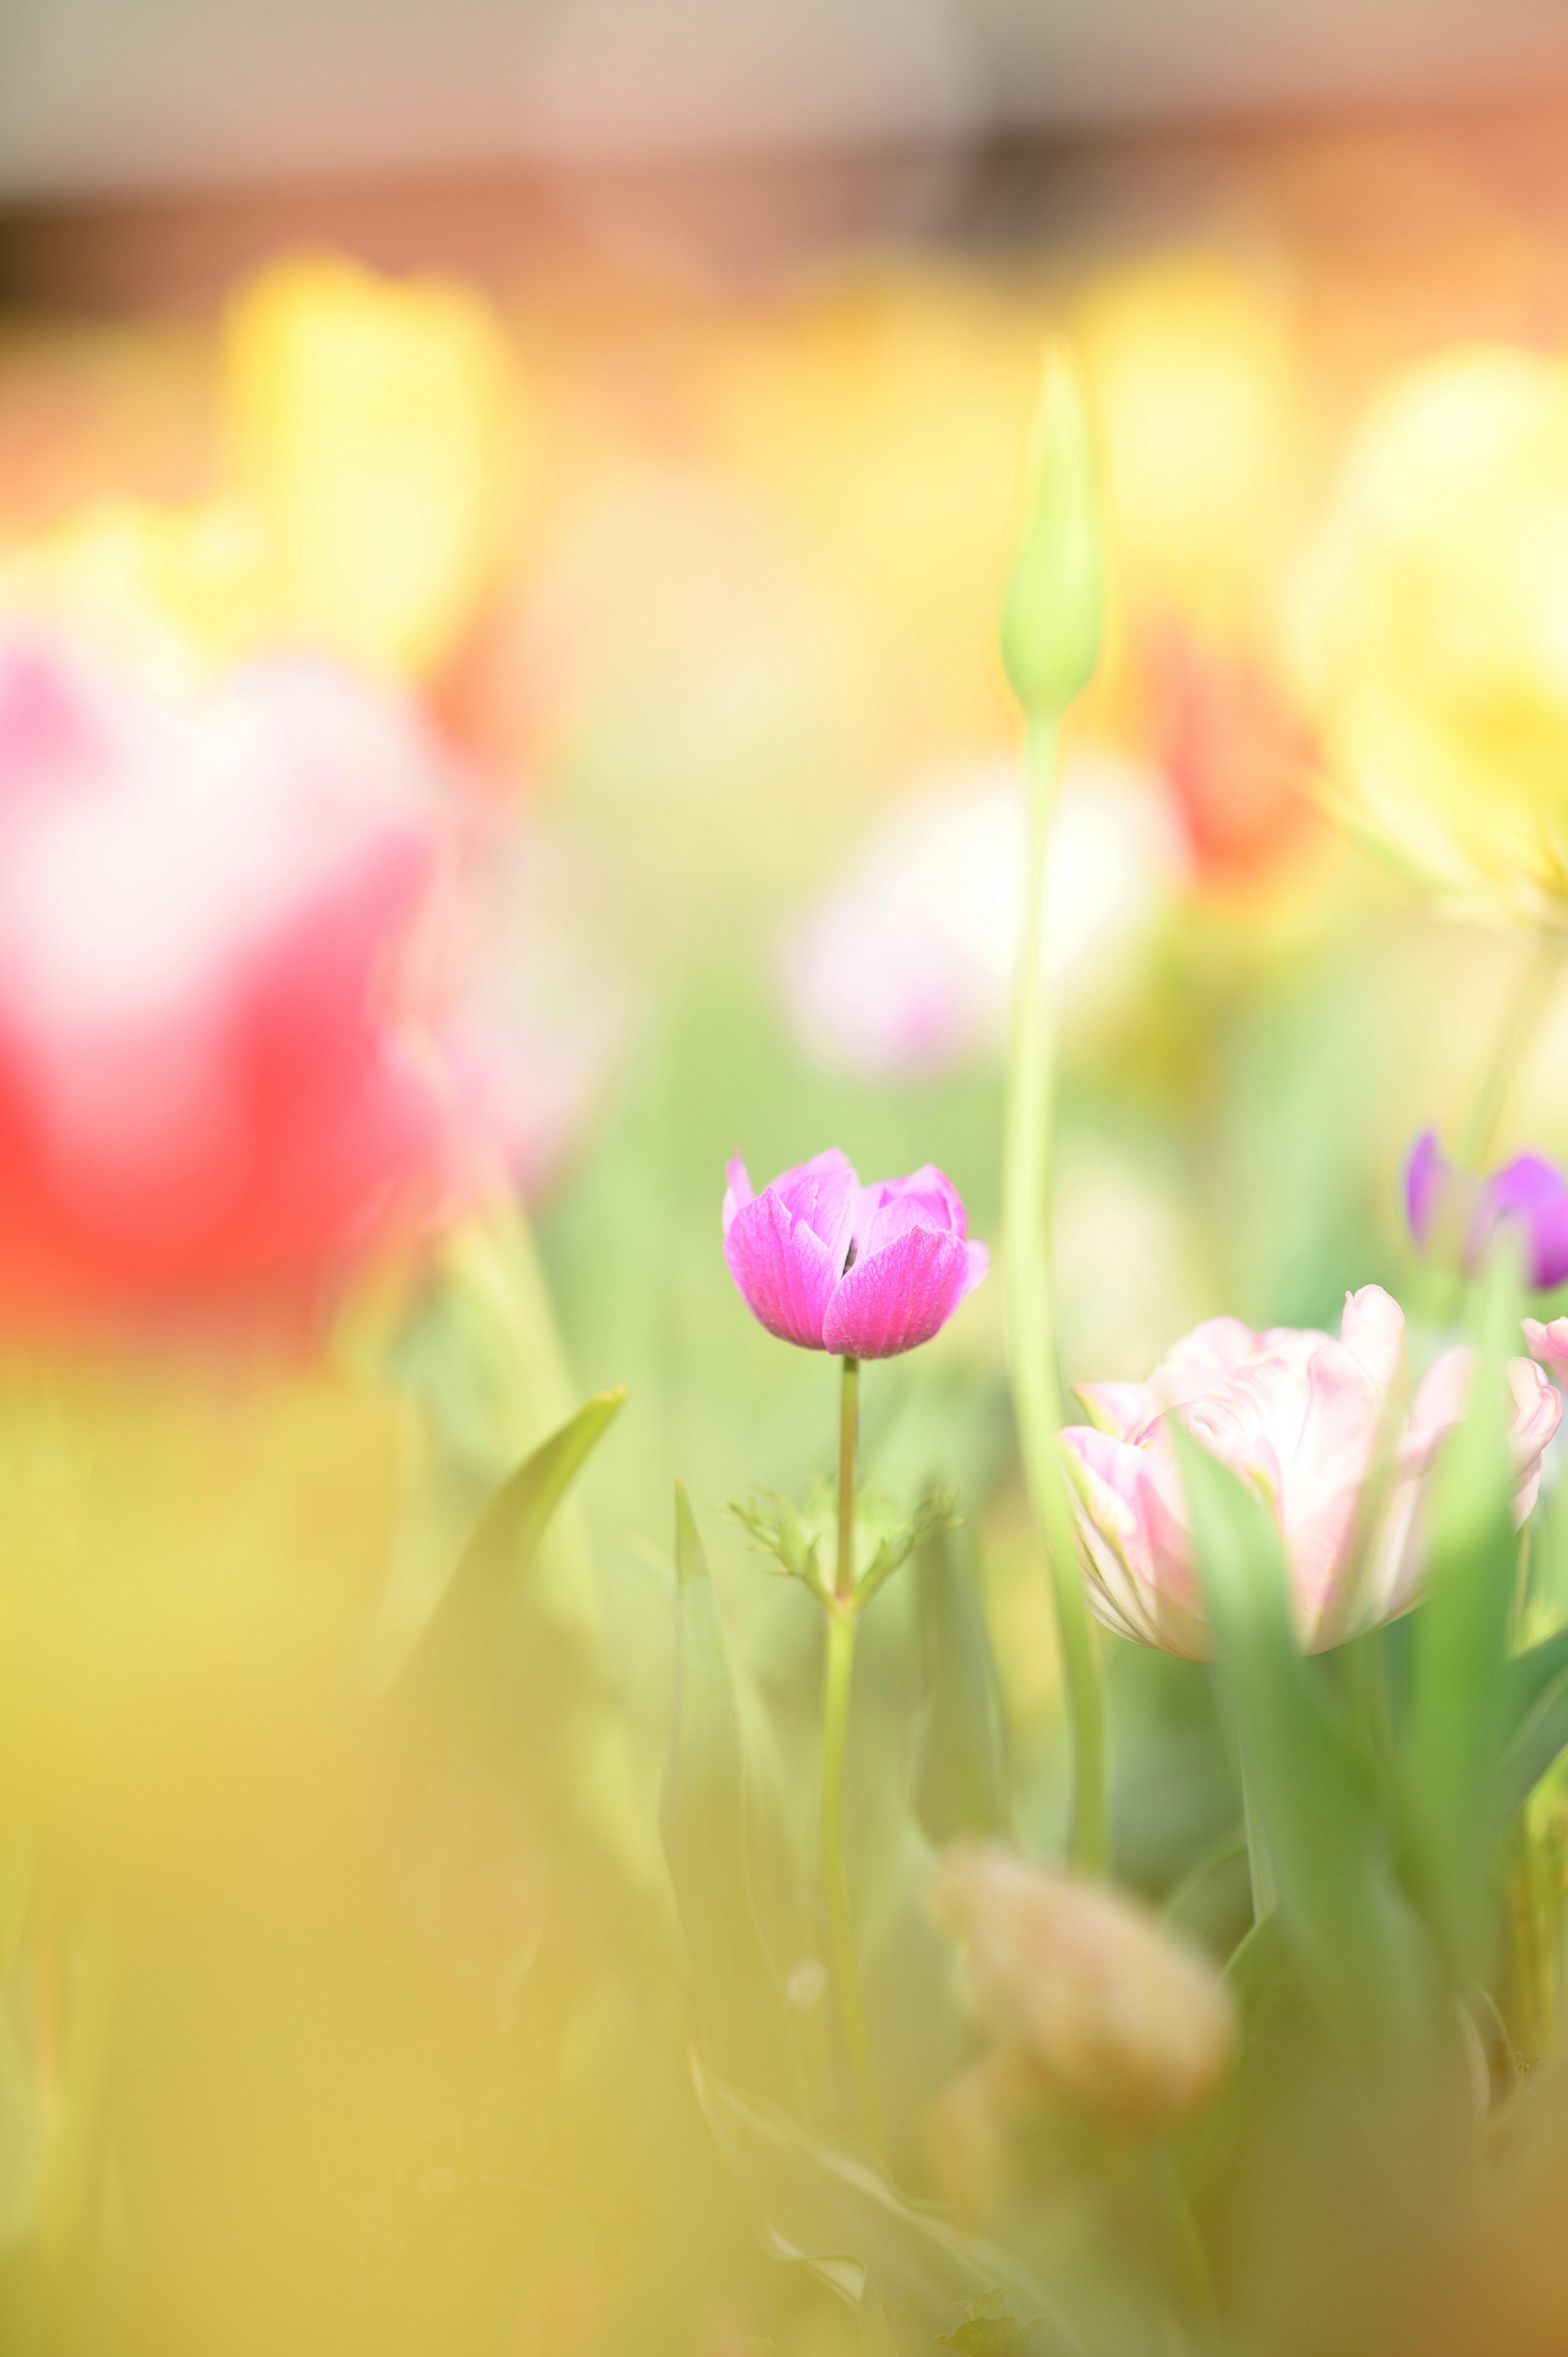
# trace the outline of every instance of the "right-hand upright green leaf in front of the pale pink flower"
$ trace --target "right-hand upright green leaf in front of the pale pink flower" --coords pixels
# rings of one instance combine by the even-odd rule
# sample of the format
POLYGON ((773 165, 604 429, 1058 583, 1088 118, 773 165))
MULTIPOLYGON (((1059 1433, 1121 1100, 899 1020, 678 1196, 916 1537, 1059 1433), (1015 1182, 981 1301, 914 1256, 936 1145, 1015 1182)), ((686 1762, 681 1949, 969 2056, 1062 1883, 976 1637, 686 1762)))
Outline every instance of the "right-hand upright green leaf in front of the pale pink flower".
POLYGON ((1495 1836, 1509 1744, 1509 1610, 1518 1567, 1504 1433, 1504 1360, 1518 1277, 1495 1254, 1481 1303, 1469 1412, 1443 1447, 1429 1501, 1429 1600, 1415 1624, 1401 1791, 1422 1897, 1460 1982, 1485 1978, 1495 1836))

